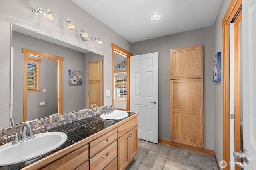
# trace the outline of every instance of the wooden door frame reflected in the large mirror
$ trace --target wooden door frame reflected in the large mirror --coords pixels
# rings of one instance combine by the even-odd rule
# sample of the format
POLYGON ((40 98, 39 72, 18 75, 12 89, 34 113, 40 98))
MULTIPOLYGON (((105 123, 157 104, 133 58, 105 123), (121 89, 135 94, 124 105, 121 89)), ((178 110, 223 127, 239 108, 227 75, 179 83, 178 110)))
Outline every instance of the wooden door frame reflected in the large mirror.
POLYGON ((43 53, 39 51, 34 51, 30 49, 22 49, 24 53, 24 97, 23 97, 23 122, 27 121, 27 101, 28 101, 28 89, 27 89, 27 78, 28 78, 28 55, 35 57, 41 57, 45 59, 51 59, 58 62, 57 65, 57 105, 58 105, 58 115, 62 114, 62 61, 63 57, 57 55, 51 55, 48 53, 43 53))

